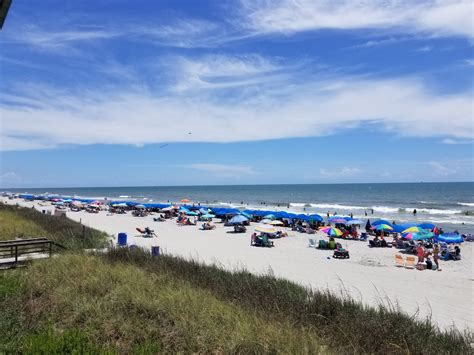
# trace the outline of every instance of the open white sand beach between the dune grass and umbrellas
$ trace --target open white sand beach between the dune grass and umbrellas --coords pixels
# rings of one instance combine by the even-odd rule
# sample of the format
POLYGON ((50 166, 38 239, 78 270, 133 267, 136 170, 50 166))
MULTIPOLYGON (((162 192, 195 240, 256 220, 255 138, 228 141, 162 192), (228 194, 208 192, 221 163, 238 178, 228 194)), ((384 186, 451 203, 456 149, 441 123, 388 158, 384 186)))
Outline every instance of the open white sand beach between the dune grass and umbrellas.
MULTIPOLYGON (((21 200, 4 201, 33 206, 33 203, 21 200)), ((36 202, 34 206, 39 210, 53 208, 39 206, 36 202)), ((230 234, 227 231, 232 228, 219 223, 216 230, 200 231, 198 226, 178 226, 175 220, 154 222, 153 216, 107 216, 106 212, 68 212, 67 216, 114 235, 115 241, 119 232, 125 232, 129 245, 159 245, 165 253, 207 264, 216 263, 231 270, 245 268, 253 273, 272 272, 305 286, 349 294, 368 305, 397 303, 410 315, 431 315, 442 328, 474 329, 474 243, 462 244, 462 260, 440 261, 441 272, 418 271, 395 267, 396 249, 371 249, 367 242, 342 241, 350 251, 351 257, 346 260, 333 259, 331 251, 308 247, 308 238, 327 239, 323 235, 289 232, 288 238, 274 240, 274 248, 251 247, 250 235, 256 224, 252 224, 245 234, 230 234), (147 226, 155 230, 158 238, 135 237, 138 234, 136 227, 147 226)))

